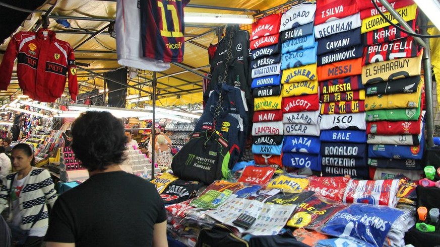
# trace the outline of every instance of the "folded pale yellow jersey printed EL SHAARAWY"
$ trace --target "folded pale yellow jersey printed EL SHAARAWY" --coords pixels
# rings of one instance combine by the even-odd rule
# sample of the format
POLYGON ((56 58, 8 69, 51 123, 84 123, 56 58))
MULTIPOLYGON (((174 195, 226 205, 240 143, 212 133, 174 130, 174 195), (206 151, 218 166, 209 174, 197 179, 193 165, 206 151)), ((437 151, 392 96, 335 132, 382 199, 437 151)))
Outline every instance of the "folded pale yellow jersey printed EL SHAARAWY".
POLYGON ((362 67, 362 84, 420 75, 423 52, 412 58, 371 63, 362 67))

